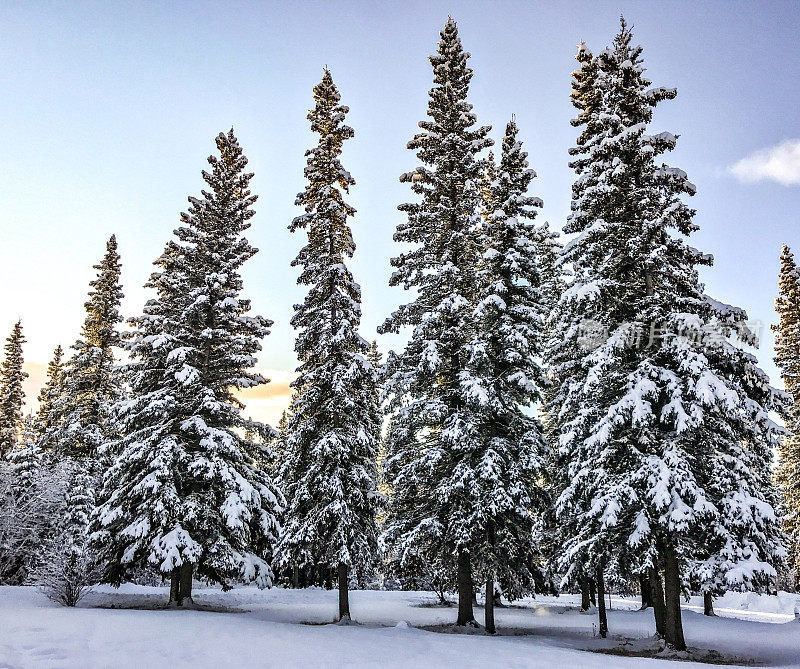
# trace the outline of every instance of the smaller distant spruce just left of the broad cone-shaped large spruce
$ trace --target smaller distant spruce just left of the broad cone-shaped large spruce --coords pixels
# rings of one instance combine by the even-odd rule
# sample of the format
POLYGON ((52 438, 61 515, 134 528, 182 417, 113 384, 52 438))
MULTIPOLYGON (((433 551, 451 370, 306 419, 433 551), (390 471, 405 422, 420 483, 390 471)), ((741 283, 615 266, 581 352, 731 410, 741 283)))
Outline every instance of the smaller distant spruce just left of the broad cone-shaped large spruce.
POLYGON ((81 336, 63 366, 59 396, 48 407, 50 425, 43 437, 45 447, 73 458, 94 458, 98 449, 113 438, 109 410, 121 395, 114 373, 114 349, 120 345, 117 327, 122 322, 121 267, 114 235, 106 243, 103 260, 94 269, 97 278, 89 284, 81 336))

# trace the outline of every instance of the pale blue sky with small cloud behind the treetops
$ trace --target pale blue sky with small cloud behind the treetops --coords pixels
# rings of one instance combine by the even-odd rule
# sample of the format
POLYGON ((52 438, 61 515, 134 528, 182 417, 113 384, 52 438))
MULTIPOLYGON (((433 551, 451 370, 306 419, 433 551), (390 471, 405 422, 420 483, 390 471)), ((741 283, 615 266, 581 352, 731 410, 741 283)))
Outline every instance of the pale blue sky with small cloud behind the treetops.
MULTIPOLYGON (((91 266, 116 233, 127 315, 186 207, 199 194, 213 139, 234 126, 259 195, 245 270, 255 309, 275 320, 260 366, 275 383, 249 401, 274 420, 295 366, 289 266, 302 244, 298 211, 305 114, 327 65, 351 108, 343 163, 357 185, 352 262, 364 295, 363 334, 404 299, 388 287, 396 210, 409 199, 405 148, 424 117, 448 14, 475 70, 471 102, 499 139, 516 114, 539 177, 543 218, 569 211, 570 73, 579 41, 599 50, 619 15, 644 46, 654 85, 678 89, 653 130, 680 134, 671 164, 689 173, 700 231, 713 253, 708 292, 765 325, 780 245, 800 251, 800 67, 795 2, 9 2, 0 5, 0 336, 21 317, 35 396, 58 343, 83 320, 91 266)), ((402 345, 379 339, 382 350, 402 345)), ((775 377, 772 336, 759 357, 775 377)), ((775 378, 777 382, 777 378, 775 378)), ((32 399, 32 398, 30 398, 32 399)))

